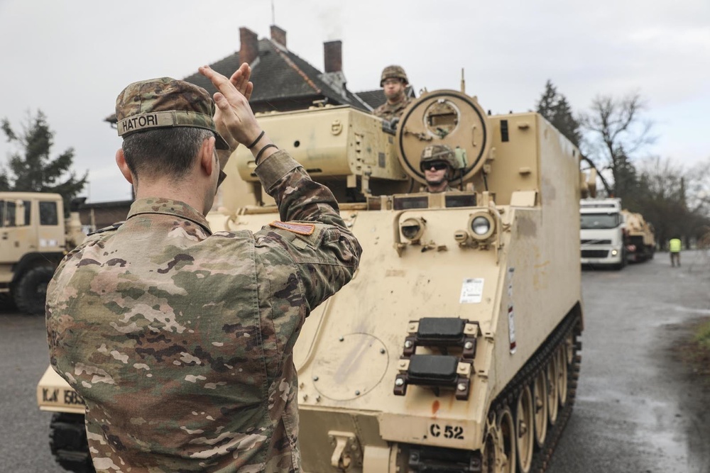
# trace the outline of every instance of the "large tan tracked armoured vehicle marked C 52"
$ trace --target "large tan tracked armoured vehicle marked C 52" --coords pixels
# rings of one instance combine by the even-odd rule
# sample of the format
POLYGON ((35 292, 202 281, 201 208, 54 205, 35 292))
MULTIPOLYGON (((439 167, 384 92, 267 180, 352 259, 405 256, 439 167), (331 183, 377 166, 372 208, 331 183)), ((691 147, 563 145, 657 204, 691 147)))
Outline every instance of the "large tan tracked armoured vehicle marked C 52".
MULTIPOLYGON (((579 151, 537 113, 488 116, 452 90, 422 93, 395 133, 346 106, 258 118, 364 248, 295 346, 303 471, 543 471, 579 374, 579 151), (435 144, 457 152, 458 191, 420 191, 435 144)), ((279 219, 254 167, 237 150, 213 230, 279 219)), ((38 401, 60 412, 60 462, 87 471, 80 399, 49 370, 38 401)))

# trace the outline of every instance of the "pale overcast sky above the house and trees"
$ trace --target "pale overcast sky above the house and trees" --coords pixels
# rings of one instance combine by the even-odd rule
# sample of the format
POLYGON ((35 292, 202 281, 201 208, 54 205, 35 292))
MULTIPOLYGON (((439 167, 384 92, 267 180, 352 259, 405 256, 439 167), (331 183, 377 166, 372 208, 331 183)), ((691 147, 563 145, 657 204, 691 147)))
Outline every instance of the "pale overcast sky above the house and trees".
MULTIPOLYGON (((709 0, 273 0, 288 48, 323 69, 343 41, 352 91, 405 67, 415 88, 459 89, 493 113, 535 107, 547 79, 585 111, 600 94, 638 92, 655 122, 649 155, 691 165, 710 157, 709 0)), ((130 82, 178 79, 239 50, 239 27, 267 37, 271 0, 170 2, 0 0, 0 118, 17 129, 42 110, 53 155, 75 148, 90 201, 130 198, 121 145, 104 122, 130 82)), ((255 84, 258 87, 258 84, 255 84)), ((12 150, 0 138, 0 162, 12 150)))

